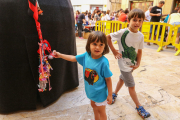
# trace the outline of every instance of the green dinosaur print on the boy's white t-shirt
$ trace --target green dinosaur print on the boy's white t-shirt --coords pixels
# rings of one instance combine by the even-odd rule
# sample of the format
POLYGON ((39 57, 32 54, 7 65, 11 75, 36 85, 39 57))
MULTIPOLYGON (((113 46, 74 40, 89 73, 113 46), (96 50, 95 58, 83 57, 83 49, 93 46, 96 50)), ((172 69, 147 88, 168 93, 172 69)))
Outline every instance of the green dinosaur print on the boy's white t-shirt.
POLYGON ((123 58, 123 61, 127 65, 131 66, 131 65, 136 64, 137 53, 135 51, 135 48, 133 48, 132 46, 128 47, 126 45, 125 39, 126 39, 126 36, 128 35, 128 33, 129 33, 129 31, 126 30, 121 37, 121 44, 122 44, 122 47, 124 48, 124 51, 122 51, 122 58, 123 58))

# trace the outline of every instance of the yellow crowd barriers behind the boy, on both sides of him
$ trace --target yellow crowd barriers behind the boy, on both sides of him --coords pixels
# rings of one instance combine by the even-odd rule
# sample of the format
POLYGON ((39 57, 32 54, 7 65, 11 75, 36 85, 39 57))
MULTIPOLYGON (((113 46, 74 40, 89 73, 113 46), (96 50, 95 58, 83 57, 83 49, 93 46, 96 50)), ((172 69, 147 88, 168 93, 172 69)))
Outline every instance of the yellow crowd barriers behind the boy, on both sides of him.
MULTIPOLYGON (((108 35, 120 29, 124 29, 126 27, 128 27, 127 22, 124 23, 120 21, 97 21, 95 30, 102 31, 106 35, 108 35)), ((172 44, 178 49, 178 51, 175 53, 175 55, 178 55, 180 53, 180 43, 175 42, 178 27, 180 27, 180 25, 173 26, 171 24, 161 23, 161 22, 143 22, 143 25, 139 30, 143 33, 145 42, 155 43, 159 46, 157 50, 158 52, 163 50, 163 46, 172 44), (151 27, 152 27, 152 32, 150 34, 151 27), (167 42, 164 41, 166 27, 170 28, 167 42), (173 32, 174 34, 172 34, 173 32)), ((117 41, 114 43, 117 43, 117 41)))

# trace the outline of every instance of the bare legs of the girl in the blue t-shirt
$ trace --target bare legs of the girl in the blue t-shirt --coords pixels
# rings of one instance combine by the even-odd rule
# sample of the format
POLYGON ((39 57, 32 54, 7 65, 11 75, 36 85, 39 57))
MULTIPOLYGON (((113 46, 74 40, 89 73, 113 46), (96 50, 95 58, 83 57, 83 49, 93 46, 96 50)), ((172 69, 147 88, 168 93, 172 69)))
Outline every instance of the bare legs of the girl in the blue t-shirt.
POLYGON ((95 102, 91 100, 91 106, 94 111, 95 120, 107 120, 106 106, 96 106, 95 102))

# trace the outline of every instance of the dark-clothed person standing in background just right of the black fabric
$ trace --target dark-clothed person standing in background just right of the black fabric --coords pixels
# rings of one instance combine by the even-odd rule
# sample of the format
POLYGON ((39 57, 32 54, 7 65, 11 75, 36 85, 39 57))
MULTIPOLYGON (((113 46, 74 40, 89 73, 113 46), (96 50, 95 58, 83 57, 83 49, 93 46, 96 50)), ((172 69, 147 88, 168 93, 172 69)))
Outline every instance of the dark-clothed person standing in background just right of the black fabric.
POLYGON ((77 19, 77 26, 78 26, 78 35, 79 35, 79 38, 83 39, 82 37, 82 24, 86 24, 86 20, 85 20, 85 15, 84 13, 81 13, 79 16, 78 16, 78 19, 77 19))

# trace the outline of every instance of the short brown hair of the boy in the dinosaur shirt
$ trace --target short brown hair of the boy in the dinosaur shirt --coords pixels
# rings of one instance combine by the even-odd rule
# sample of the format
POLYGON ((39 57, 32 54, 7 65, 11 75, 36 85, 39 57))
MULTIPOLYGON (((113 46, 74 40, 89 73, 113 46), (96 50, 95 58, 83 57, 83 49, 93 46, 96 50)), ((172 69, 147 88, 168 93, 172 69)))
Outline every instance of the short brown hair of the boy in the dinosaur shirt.
POLYGON ((132 9, 129 12, 128 20, 130 21, 134 17, 143 18, 143 20, 144 20, 145 19, 145 14, 144 14, 144 12, 141 9, 135 8, 135 9, 132 9))

